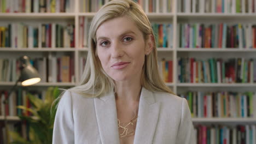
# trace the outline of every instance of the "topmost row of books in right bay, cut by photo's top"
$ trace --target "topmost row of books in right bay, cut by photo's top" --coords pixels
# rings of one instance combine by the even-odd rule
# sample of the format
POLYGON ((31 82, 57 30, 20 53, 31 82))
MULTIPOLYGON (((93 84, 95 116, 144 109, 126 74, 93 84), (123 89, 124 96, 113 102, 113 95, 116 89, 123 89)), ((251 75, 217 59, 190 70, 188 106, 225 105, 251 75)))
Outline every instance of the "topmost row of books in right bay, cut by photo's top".
POLYGON ((255 0, 181 0, 181 13, 256 13, 255 0))

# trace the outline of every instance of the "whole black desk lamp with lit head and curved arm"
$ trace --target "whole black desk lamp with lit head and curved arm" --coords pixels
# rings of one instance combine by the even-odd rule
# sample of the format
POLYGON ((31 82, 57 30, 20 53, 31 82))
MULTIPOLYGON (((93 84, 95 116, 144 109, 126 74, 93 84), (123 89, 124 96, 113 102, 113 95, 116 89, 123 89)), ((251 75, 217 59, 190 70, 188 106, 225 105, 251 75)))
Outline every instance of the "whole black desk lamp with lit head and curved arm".
MULTIPOLYGON (((21 82, 21 86, 30 86, 34 85, 35 83, 38 83, 41 79, 39 77, 39 74, 37 70, 30 64, 30 59, 27 56, 20 57, 19 61, 21 62, 21 74, 19 79, 15 82, 15 85, 11 87, 7 98, 4 99, 3 104, 4 108, 5 105, 8 103, 8 99, 10 97, 11 92, 13 92, 17 85, 18 82, 21 82)), ((7 113, 4 110, 4 126, 5 126, 5 133, 7 137, 7 143, 10 142, 9 140, 9 134, 8 134, 8 126, 7 126, 7 113)))

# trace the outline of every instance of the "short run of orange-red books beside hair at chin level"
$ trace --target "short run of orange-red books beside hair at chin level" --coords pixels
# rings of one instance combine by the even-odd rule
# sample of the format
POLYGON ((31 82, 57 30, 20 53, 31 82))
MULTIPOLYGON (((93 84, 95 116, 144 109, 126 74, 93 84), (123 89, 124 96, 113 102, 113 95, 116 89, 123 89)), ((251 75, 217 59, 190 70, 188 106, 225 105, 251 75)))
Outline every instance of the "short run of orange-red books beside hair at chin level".
POLYGON ((173 82, 173 62, 162 59, 158 61, 159 74, 165 82, 173 82))

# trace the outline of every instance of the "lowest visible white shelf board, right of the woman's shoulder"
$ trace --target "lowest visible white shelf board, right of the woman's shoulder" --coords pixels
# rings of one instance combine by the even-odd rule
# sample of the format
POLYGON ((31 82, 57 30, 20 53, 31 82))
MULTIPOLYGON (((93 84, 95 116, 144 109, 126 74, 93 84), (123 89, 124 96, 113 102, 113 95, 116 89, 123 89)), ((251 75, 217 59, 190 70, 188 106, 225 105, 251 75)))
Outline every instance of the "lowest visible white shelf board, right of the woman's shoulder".
POLYGON ((234 122, 234 123, 256 123, 256 118, 192 118, 194 123, 225 123, 225 122, 234 122))

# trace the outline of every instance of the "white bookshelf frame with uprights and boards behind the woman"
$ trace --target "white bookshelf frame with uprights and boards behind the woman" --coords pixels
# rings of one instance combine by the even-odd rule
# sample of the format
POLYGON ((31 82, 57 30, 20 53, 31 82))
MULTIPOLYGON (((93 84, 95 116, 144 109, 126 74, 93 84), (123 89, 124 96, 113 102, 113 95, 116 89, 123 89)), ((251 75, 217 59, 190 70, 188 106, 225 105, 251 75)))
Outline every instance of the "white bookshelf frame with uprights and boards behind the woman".
MULTIPOLYGON (((89 0, 88 0, 89 1, 89 0)), ((108 0, 106 0, 107 2, 108 0)), ((158 56, 159 61, 162 58, 166 58, 166 61, 171 60, 173 62, 173 71, 172 77, 173 81, 166 83, 172 91, 176 94, 186 92, 186 91, 240 91, 240 92, 256 92, 255 82, 246 82, 246 83, 181 83, 178 82, 178 58, 179 57, 195 57, 195 58, 254 58, 256 59, 256 47, 248 49, 243 48, 219 48, 218 46, 214 48, 185 48, 179 45, 179 25, 180 23, 205 23, 206 25, 210 25, 214 23, 218 25, 219 23, 229 23, 229 25, 235 25, 236 23, 252 23, 256 25, 256 1, 254 1, 255 9, 249 10, 246 12, 245 9, 241 9, 241 12, 234 11, 234 8, 224 8, 229 9, 230 11, 224 11, 223 13, 217 12, 214 10, 214 7, 210 10, 198 10, 199 12, 191 11, 182 12, 181 11, 181 3, 185 2, 194 2, 196 0, 155 0, 156 9, 152 11, 149 7, 149 1, 140 1, 143 3, 143 9, 146 11, 146 14, 149 17, 151 22, 155 23, 170 23, 172 25, 172 39, 168 41, 168 43, 172 43, 171 47, 158 47, 158 56), (163 2, 163 3, 161 3, 163 2), (171 2, 170 8, 160 9, 161 4, 171 2), (168 12, 167 12, 168 11, 168 12), (207 11, 207 12, 203 12, 207 11), (210 12, 209 12, 210 11, 210 12)), ((214 3, 215 0, 207 0, 206 2, 214 3)), ((219 1, 219 0, 216 0, 219 1)), ((238 2, 239 0, 237 0, 238 2)), ((252 0, 253 1, 253 0, 252 0)), ((198 2, 203 2, 203 0, 198 0, 198 2)), ((229 1, 230 2, 230 1, 229 1)), ((234 1, 232 1, 234 2, 234 1)), ((75 46, 74 47, 51 47, 51 48, 7 48, 0 47, 0 57, 18 57, 20 55, 28 55, 30 57, 42 57, 49 56, 49 53, 54 53, 54 55, 69 55, 74 58, 74 77, 75 80, 73 82, 41 82, 32 87, 48 87, 48 86, 60 86, 60 87, 72 87, 78 85, 78 80, 80 77, 80 65, 81 60, 80 57, 86 57, 86 53, 88 49, 86 46, 81 46, 80 38, 80 19, 81 17, 85 17, 88 19, 88 22, 95 15, 95 11, 89 12, 83 10, 82 7, 84 5, 84 1, 75 0, 74 1, 74 11, 69 11, 68 13, 0 13, 0 26, 5 25, 7 22, 26 22, 26 23, 49 23, 49 22, 60 22, 60 23, 73 23, 75 27, 75 46)), ((234 6, 234 5, 233 5, 234 6)), ((194 6, 193 6, 194 7, 194 6)), ((216 6, 218 7, 218 5, 216 6)), ((241 6, 245 7, 245 6, 241 6)), ((199 8, 202 8, 199 5, 199 8)), ((94 10, 97 8, 95 7, 94 10)), ((217 8, 216 8, 217 9, 217 8)), ((169 34, 170 35, 170 34, 169 34)), ((255 36, 256 37, 256 36, 255 36)), ((83 40, 82 40, 83 41, 83 40)), ((256 71, 256 70, 255 70, 256 71)), ((254 72, 255 73, 255 72, 254 72)), ((11 87, 14 82, 0 82, 0 89, 11 87)), ((256 96, 256 95, 254 95, 256 96)), ((255 110, 255 109, 254 109, 255 110)), ((15 119, 15 118, 8 118, 15 119)), ((0 117, 1 121, 1 117, 0 117)), ((193 122, 196 123, 256 123, 256 116, 253 118, 193 118, 193 122)))

